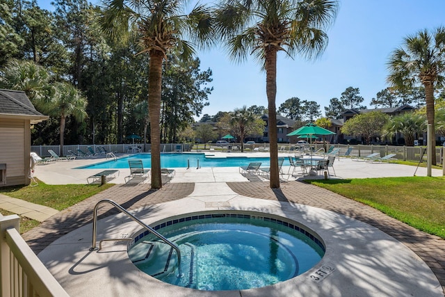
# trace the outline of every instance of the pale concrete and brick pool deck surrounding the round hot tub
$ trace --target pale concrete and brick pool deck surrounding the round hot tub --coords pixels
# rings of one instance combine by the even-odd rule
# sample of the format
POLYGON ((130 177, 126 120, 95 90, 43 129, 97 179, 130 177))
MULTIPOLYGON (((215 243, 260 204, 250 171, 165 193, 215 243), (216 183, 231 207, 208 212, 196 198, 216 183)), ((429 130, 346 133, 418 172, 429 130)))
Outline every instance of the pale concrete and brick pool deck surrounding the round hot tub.
MULTIPOLYGON (((76 160, 39 166, 36 176, 44 182, 49 177, 48 184, 59 180, 63 184, 74 183, 67 182, 66 176, 72 172, 70 167, 84 162, 92 163, 76 160), (56 174, 50 173, 53 166, 56 174)), ((349 159, 337 160, 334 168, 337 177, 342 178, 412 176, 415 170, 412 166, 349 159)), ((40 259, 72 296, 444 296, 445 244, 437 236, 295 179, 283 181, 281 188, 273 191, 268 182, 247 182, 238 168, 218 169, 200 168, 195 169, 196 172, 177 169, 175 178, 159 191, 149 191, 149 184, 117 184, 51 216, 24 234, 24 238, 35 252, 40 252, 40 259), (320 265, 335 270, 318 283, 311 280, 311 273, 320 268, 316 266, 292 280, 241 292, 202 292, 163 284, 134 268, 122 243, 104 243, 101 252, 88 251, 92 208, 105 198, 122 204, 147 223, 177 214, 211 210, 261 211, 285 216, 321 234, 327 255, 320 265)), ((416 175, 426 175, 421 169, 425 168, 419 168, 416 175)), ((76 173, 72 178, 86 184, 88 174, 91 175, 76 173)), ((433 175, 442 175, 442 170, 433 171, 433 175)), ((111 207, 101 207, 99 213, 98 240, 131 236, 138 230, 111 207)))

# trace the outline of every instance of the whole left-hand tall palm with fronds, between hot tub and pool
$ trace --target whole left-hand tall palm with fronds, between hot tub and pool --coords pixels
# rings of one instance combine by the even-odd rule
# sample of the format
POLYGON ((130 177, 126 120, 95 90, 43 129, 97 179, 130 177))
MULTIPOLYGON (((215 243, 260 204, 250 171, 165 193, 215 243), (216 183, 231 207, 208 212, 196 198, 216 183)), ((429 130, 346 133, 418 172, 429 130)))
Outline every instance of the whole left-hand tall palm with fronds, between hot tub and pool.
POLYGON ((172 49, 184 60, 195 53, 193 44, 209 45, 213 40, 212 17, 205 6, 197 5, 191 13, 182 13, 186 1, 180 0, 106 0, 99 20, 110 35, 120 35, 129 26, 140 33, 141 53, 149 54, 148 110, 152 143, 152 188, 161 188, 161 81, 162 63, 172 49))

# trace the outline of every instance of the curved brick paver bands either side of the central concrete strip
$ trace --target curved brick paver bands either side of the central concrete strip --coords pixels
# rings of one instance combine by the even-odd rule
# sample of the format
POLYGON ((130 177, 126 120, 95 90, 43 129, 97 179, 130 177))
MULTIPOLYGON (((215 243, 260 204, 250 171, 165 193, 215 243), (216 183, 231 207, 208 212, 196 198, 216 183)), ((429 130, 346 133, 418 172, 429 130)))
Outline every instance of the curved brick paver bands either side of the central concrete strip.
MULTIPOLYGON (((251 198, 277 200, 320 207, 378 227, 416 252, 437 276, 445 289, 445 241, 416 230, 382 214, 367 205, 355 202, 323 188, 303 182, 284 182, 272 190, 268 182, 229 182, 236 193, 251 198)), ((159 191, 149 191, 148 184, 116 185, 45 220, 39 227, 23 235, 35 253, 40 252, 60 236, 86 225, 92 220, 92 209, 102 199, 112 199, 126 209, 154 207, 155 204, 178 200, 193 192, 193 183, 166 184, 159 191)), ((155 210, 155 209, 154 209, 155 210)), ((99 218, 115 214, 115 209, 104 205, 99 218)))

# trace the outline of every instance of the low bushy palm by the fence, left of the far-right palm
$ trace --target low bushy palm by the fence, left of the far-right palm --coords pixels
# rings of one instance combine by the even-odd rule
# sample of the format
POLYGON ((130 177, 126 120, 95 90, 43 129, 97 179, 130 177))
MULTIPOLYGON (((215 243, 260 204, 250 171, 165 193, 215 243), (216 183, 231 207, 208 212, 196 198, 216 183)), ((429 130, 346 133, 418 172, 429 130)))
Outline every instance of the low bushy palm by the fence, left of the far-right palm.
POLYGON ((403 134, 405 144, 413 146, 416 134, 426 131, 425 115, 420 113, 403 113, 396 115, 383 128, 383 137, 392 138, 396 133, 403 134))

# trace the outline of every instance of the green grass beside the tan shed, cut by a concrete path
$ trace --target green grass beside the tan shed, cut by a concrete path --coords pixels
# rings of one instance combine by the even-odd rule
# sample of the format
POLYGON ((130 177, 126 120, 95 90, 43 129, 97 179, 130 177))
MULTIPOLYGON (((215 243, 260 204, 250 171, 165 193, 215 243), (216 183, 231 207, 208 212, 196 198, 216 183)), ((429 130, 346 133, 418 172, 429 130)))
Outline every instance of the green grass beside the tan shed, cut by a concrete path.
MULTIPOLYGON (((0 188, 0 193, 12 198, 63 210, 111 186, 113 186, 113 184, 49 185, 39 181, 38 186, 8 186, 0 188)), ((8 216, 12 213, 0 209, 0 214, 8 216)), ((39 225, 39 222, 36 220, 24 217, 20 218, 20 234, 31 230, 37 225, 39 225)))

